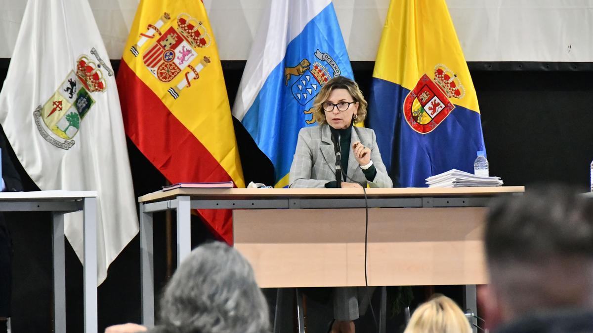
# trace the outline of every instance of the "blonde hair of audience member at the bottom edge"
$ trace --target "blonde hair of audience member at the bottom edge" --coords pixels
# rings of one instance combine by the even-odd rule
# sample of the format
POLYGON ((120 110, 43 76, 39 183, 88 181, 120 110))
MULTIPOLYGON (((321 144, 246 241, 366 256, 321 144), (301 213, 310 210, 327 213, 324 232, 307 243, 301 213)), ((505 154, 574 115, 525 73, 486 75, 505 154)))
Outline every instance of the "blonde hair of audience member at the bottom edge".
POLYGON ((414 311, 404 333, 471 333, 471 326, 459 306, 440 295, 414 311))

